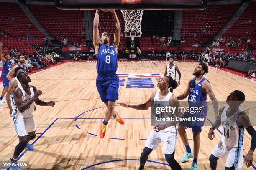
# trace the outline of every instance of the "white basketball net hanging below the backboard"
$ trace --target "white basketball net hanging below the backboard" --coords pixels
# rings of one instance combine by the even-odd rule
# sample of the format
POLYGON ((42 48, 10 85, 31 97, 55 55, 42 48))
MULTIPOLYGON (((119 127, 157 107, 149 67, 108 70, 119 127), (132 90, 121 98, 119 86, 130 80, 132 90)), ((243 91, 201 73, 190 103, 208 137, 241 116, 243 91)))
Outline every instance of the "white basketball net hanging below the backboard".
POLYGON ((141 32, 141 20, 144 10, 121 10, 125 20, 125 32, 141 32))

